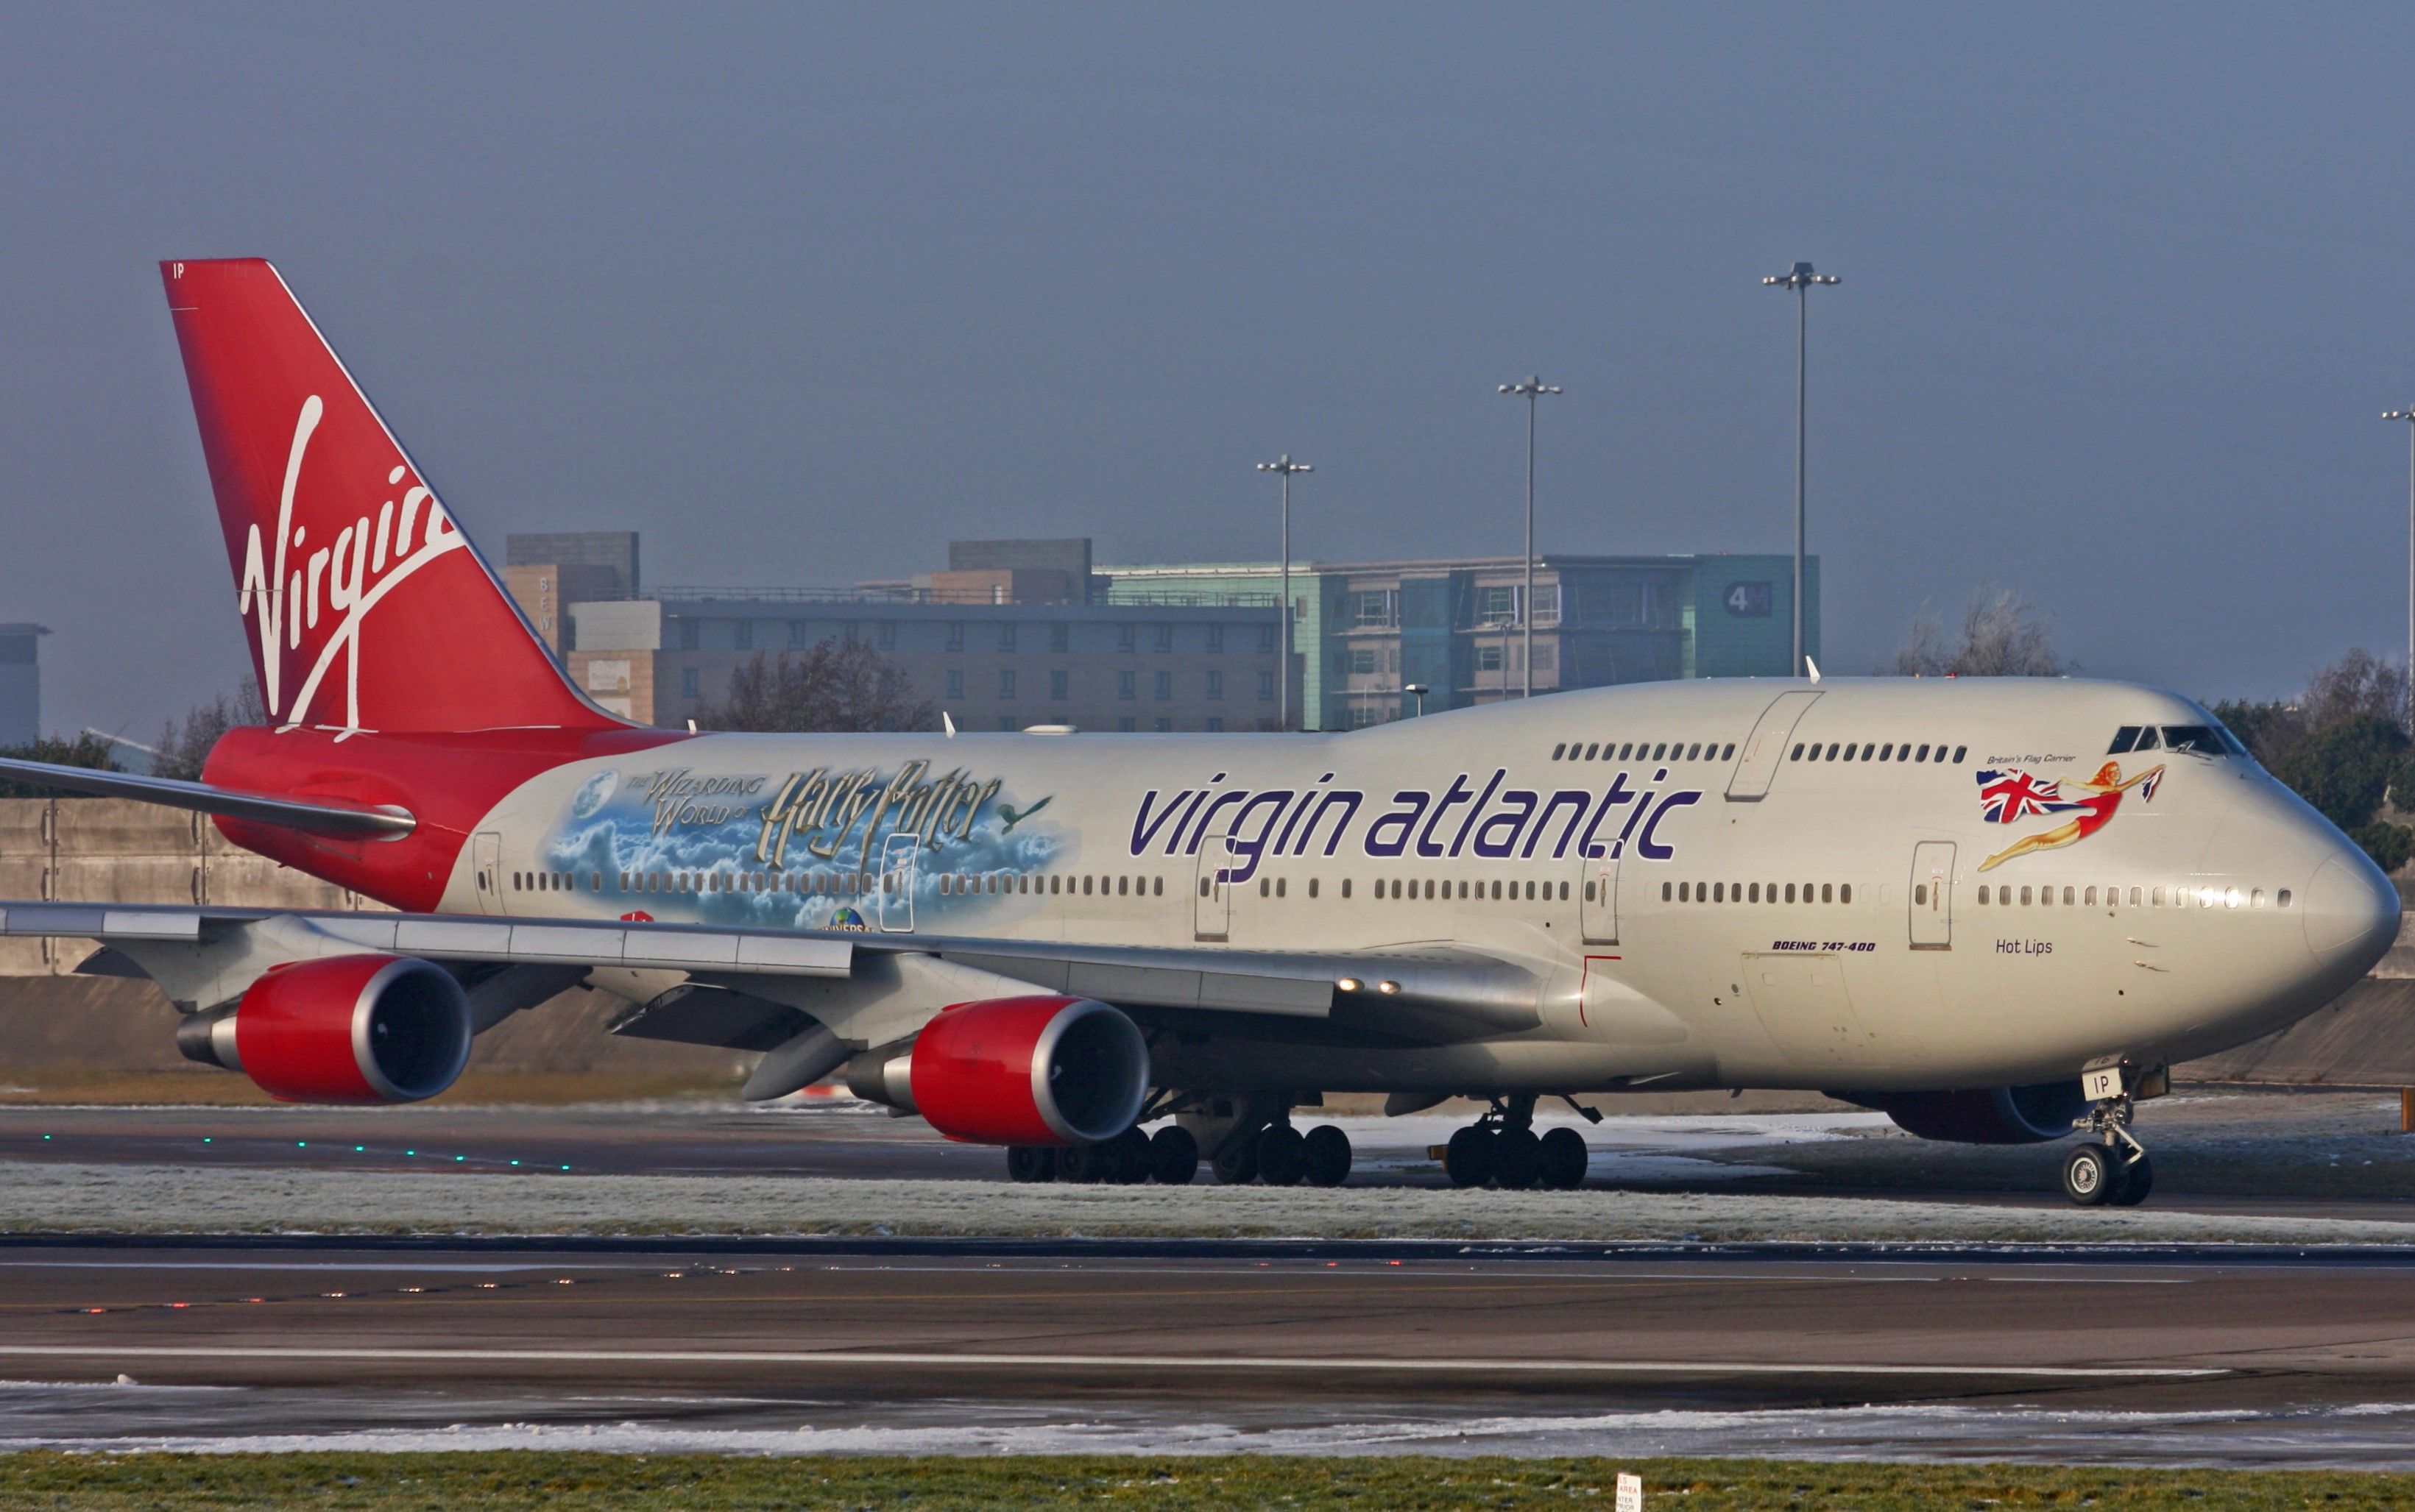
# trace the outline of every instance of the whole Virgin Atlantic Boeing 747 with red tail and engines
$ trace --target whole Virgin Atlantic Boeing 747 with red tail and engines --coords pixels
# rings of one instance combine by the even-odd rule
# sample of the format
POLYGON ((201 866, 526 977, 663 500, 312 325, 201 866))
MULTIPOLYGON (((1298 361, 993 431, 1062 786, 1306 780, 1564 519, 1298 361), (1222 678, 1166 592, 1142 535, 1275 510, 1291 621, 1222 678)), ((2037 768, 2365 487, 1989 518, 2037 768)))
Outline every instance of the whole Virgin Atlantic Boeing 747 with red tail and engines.
POLYGON ((531 633, 278 271, 162 263, 270 722, 210 814, 398 913, 0 903, 290 1101, 442 1094, 584 985, 616 1034, 843 1077, 1019 1181, 1340 1184, 1297 1118, 1471 1097, 1459 1186, 1575 1188, 1565 1099, 1809 1089, 2048 1142, 2140 1203, 2137 1101, 2398 937, 2367 855, 2205 708, 2079 679, 1703 679, 1335 734, 696 734, 531 633), (1154 1133, 1142 1133, 1145 1126, 1154 1133))

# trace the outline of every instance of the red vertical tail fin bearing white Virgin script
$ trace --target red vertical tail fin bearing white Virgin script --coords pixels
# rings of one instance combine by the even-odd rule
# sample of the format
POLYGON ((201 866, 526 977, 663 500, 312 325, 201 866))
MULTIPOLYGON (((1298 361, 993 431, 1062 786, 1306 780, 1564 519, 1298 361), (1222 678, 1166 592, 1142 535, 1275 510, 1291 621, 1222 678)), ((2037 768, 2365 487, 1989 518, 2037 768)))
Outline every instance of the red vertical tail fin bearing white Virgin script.
POLYGON ((278 725, 618 725, 560 674, 275 268, 159 275, 278 725))

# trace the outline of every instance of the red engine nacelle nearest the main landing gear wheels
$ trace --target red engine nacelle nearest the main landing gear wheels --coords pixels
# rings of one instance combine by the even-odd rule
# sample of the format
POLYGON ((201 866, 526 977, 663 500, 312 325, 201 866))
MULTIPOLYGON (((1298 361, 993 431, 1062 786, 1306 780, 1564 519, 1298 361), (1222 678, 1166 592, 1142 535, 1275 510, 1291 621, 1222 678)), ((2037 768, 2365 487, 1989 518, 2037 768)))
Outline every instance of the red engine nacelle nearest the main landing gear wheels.
POLYGON ((952 1140, 1094 1145, 1140 1116, 1150 1046, 1089 998, 990 998, 942 1007, 906 1056, 860 1056, 848 1087, 952 1140))

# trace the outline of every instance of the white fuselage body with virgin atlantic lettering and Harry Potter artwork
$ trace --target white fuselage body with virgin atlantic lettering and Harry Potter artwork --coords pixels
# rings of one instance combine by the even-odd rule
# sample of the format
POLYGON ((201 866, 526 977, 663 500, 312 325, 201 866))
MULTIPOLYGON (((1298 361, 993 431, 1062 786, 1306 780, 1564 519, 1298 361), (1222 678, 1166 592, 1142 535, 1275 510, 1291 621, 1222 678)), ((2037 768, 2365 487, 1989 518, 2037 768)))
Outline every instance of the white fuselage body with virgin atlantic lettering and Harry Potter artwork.
POLYGON ((2388 879, 2246 756, 2108 754, 2207 725, 2123 684, 1886 679, 1304 737, 712 734, 526 783, 444 908, 1456 952, 1541 983, 1541 1027, 1480 1046, 1210 1036, 1186 1075, 1215 1084, 2024 1084, 2268 1034, 2396 937, 2388 879))

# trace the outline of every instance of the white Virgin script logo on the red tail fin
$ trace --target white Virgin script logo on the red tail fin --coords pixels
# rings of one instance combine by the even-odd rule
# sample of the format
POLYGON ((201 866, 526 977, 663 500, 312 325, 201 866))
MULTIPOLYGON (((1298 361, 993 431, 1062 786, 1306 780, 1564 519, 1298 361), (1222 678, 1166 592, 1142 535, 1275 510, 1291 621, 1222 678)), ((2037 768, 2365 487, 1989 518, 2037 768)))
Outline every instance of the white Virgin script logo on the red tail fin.
MULTIPOLYGON (((285 488, 278 493, 275 546, 261 541, 258 522, 244 541, 244 577, 234 601, 237 613, 254 621, 261 638, 261 698, 280 729, 309 722, 319 705, 319 693, 336 657, 345 659, 343 674, 343 729, 360 729, 360 628, 369 609, 398 582, 437 560, 447 551, 459 551, 466 541, 454 529, 452 517, 427 485, 411 481, 398 500, 377 507, 372 527, 367 514, 336 531, 326 546, 312 546, 309 527, 295 524, 295 488, 302 481, 302 459, 309 440, 326 415, 326 403, 312 394, 295 418, 295 440, 285 454, 285 488), (292 570, 287 570, 292 560, 292 570), (336 616, 326 638, 319 638, 319 616, 336 616), (314 650, 302 686, 285 696, 285 657, 299 659, 304 635, 314 650)), ((411 478, 411 469, 396 464, 386 473, 386 488, 411 478)))

